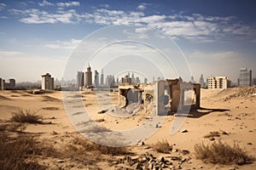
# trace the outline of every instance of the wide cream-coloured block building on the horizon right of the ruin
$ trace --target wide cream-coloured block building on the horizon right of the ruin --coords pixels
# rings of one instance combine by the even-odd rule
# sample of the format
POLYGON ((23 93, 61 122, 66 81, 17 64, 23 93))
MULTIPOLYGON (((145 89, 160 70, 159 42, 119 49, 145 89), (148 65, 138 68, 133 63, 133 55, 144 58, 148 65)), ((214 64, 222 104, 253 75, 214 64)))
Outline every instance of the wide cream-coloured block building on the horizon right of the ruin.
POLYGON ((228 77, 213 77, 207 78, 208 88, 230 88, 230 79, 228 77))

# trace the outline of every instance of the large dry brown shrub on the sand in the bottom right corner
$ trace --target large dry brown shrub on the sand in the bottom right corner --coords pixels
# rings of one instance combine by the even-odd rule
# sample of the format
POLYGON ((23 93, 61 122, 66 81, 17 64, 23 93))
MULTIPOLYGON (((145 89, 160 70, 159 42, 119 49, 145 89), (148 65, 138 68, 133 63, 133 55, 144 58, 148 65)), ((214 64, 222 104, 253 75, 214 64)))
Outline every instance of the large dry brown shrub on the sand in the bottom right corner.
POLYGON ((253 161, 253 157, 248 156, 244 150, 241 150, 239 144, 231 147, 229 144, 223 144, 220 140, 212 144, 195 144, 195 156, 202 161, 213 164, 245 164, 253 161))

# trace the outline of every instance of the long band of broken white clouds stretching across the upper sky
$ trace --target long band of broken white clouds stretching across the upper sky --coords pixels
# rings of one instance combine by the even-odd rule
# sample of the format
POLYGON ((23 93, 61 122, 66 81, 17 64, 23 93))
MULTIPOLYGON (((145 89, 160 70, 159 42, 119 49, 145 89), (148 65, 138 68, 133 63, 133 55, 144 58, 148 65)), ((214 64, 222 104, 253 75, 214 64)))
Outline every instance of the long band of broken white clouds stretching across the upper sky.
MULTIPOLYGON (((43 3, 46 4, 46 2, 43 3)), ((126 12, 107 8, 96 8, 91 13, 79 13, 74 9, 66 9, 66 7, 79 6, 79 2, 57 3, 57 5, 55 11, 44 11, 36 8, 11 9, 9 11, 18 15, 20 21, 27 24, 90 23, 102 26, 134 24, 159 29, 170 37, 182 37, 197 42, 212 42, 212 40, 234 35, 251 39, 256 37, 255 28, 242 24, 234 16, 219 17, 202 14, 145 15, 142 11, 126 12)), ((142 5, 146 6, 148 4, 143 3, 142 5)), ((143 29, 137 31, 143 33, 143 29)))

